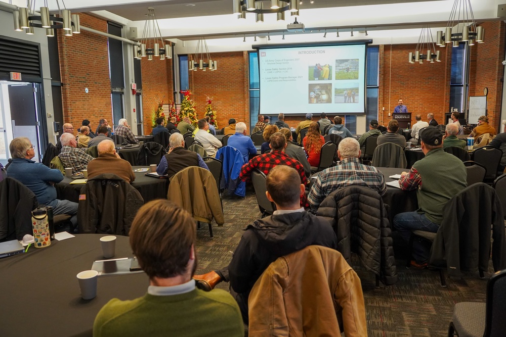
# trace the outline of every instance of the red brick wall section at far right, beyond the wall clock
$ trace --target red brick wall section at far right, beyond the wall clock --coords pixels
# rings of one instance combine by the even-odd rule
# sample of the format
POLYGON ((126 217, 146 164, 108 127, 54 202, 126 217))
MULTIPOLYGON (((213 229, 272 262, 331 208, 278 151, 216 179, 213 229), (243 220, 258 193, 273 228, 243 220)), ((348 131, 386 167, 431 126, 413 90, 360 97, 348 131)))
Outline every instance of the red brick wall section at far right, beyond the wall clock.
POLYGON ((504 22, 481 24, 485 28, 485 43, 471 46, 469 69, 469 95, 482 96, 488 87, 487 115, 489 124, 501 132, 500 113, 504 56, 504 22))

